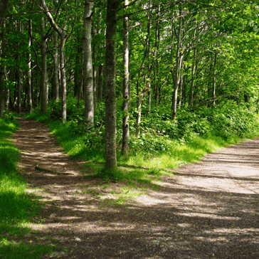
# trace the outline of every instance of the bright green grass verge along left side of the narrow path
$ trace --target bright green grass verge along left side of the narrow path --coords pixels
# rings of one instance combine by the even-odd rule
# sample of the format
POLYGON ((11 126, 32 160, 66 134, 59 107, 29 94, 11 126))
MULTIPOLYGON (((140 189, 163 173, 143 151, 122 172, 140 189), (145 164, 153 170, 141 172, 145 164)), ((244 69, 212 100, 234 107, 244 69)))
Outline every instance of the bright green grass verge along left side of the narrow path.
POLYGON ((26 242, 40 207, 26 194, 26 182, 16 170, 19 150, 9 137, 18 127, 15 120, 0 118, 0 258, 40 258, 53 247, 26 242))

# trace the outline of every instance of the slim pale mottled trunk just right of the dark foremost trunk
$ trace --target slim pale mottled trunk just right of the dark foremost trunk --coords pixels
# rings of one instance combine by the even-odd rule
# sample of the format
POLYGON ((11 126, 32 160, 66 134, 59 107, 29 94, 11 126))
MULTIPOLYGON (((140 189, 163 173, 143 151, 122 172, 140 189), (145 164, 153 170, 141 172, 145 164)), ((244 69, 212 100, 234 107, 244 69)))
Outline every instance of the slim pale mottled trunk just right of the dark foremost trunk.
MULTIPOLYGON (((129 4, 125 0, 125 6, 129 4)), ((123 18, 122 154, 129 152, 129 18, 123 18)))

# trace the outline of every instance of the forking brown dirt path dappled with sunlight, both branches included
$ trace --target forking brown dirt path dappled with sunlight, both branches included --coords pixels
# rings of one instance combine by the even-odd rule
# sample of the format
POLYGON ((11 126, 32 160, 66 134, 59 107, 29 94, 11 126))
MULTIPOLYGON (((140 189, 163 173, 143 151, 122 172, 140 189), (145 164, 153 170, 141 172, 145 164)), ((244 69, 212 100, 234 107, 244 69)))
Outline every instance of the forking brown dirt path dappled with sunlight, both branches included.
POLYGON ((117 207, 112 195, 122 183, 84 179, 82 163, 63 154, 47 127, 18 122, 21 172, 48 201, 28 240, 68 248, 54 258, 259 258, 259 139, 182 166, 161 188, 117 207))

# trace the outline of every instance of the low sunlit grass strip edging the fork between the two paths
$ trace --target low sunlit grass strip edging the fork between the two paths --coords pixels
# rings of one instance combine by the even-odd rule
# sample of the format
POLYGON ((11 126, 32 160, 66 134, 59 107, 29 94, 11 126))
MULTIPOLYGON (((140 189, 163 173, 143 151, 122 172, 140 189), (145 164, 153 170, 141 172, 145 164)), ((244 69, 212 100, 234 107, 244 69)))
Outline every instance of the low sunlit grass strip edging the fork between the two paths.
POLYGON ((118 169, 116 171, 105 171, 104 150, 89 149, 85 144, 84 134, 75 134, 70 122, 62 125, 60 122, 51 121, 49 115, 40 113, 34 113, 26 117, 46 123, 70 157, 88 161, 85 166, 93 169, 95 174, 86 175, 87 177, 127 181, 129 184, 132 184, 132 181, 137 181, 140 184, 154 184, 154 182, 159 181, 162 174, 173 174, 165 169, 176 169, 183 164, 199 161, 207 153, 244 139, 237 136, 228 138, 215 137, 212 134, 208 134, 206 137, 191 134, 189 139, 184 139, 183 141, 159 136, 151 137, 149 140, 146 138, 143 141, 141 138, 133 139, 132 149, 134 152, 127 157, 122 157, 118 151, 118 169), (159 138, 162 139, 160 142, 159 138), (139 148, 143 142, 149 142, 149 147, 154 146, 154 148, 139 148), (157 143, 162 143, 162 148, 161 144, 156 146, 157 143))

